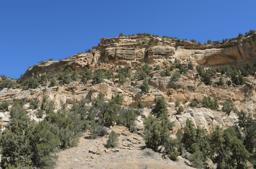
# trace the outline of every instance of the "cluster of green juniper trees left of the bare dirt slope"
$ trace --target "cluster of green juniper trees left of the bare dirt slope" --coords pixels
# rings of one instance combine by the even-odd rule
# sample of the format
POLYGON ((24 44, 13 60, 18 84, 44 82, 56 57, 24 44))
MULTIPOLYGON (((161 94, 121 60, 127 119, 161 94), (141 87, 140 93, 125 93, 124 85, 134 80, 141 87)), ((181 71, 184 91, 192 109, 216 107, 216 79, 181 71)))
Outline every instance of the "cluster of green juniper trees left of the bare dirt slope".
MULTIPOLYGON (((90 138, 108 135, 104 126, 122 125, 137 133, 135 119, 140 114, 140 108, 144 105, 138 101, 136 107, 123 108, 123 99, 117 94, 110 100, 99 93, 92 100, 92 106, 87 108, 85 101, 73 103, 71 109, 67 104, 62 104, 55 113, 53 101, 47 101, 43 96, 41 104, 38 98, 33 98, 29 109, 38 109, 36 115, 43 121, 35 123, 26 116, 23 108, 24 101, 13 104, 10 110, 11 121, 8 127, 0 134, 0 148, 2 151, 1 167, 5 168, 53 168, 58 156, 54 155, 60 149, 76 146, 82 132, 90 130, 90 138)), ((8 110, 9 103, 3 101, 1 110, 8 110)), ((112 131, 107 141, 108 147, 117 145, 117 135, 112 131)))

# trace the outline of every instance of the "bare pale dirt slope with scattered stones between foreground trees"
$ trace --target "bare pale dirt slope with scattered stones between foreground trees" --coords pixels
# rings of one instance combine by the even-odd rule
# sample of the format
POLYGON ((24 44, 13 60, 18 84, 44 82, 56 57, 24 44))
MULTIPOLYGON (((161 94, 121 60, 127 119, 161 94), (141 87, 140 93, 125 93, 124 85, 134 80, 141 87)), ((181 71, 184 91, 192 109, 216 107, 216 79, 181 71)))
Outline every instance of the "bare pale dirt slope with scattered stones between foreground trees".
POLYGON ((89 132, 84 133, 77 147, 63 150, 57 155, 56 169, 95 168, 95 169, 140 169, 148 165, 147 169, 189 169, 185 159, 181 158, 174 162, 169 158, 163 159, 162 154, 149 150, 150 155, 145 154, 145 143, 139 134, 133 134, 125 127, 111 127, 118 133, 118 146, 114 149, 107 149, 107 136, 97 139, 88 139, 89 132), (136 143, 136 144, 135 144, 136 143), (140 143, 140 144, 139 144, 140 143), (129 145, 130 144, 130 145, 129 145), (91 147, 98 150, 105 150, 102 155, 89 152, 91 147), (131 147, 128 147, 131 146, 131 147))

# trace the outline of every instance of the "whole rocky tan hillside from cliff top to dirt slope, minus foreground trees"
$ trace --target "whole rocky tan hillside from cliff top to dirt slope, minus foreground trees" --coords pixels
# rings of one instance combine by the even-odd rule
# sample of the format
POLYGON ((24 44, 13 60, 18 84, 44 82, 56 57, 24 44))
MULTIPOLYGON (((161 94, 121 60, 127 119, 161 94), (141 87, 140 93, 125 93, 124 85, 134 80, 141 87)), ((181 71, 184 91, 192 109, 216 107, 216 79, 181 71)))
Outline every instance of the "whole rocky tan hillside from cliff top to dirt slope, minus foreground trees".
MULTIPOLYGON (((96 99, 99 93, 105 95, 105 101, 113 100, 119 94, 123 99, 122 107, 124 108, 136 109, 138 101, 145 106, 140 109, 135 120, 138 133, 130 133, 128 128, 114 125, 115 121, 112 125, 102 124, 107 126, 108 132, 115 130, 119 133, 119 145, 115 149, 107 149, 102 146, 106 145, 107 137, 97 138, 97 141, 88 139, 90 128, 87 128, 79 138, 78 147, 69 146, 57 153, 60 157, 56 167, 122 168, 120 166, 123 166, 123 168, 129 168, 126 166, 131 165, 130 168, 138 168, 143 167, 140 162, 146 164, 147 161, 151 161, 149 168, 160 168, 160 165, 161 168, 174 166, 189 168, 186 164, 193 165, 183 158, 184 156, 178 156, 180 161, 174 162, 167 156, 163 159, 161 157, 163 151, 153 152, 152 156, 143 156, 143 159, 140 159, 142 161, 138 160, 136 164, 131 164, 127 160, 134 161, 136 159, 134 156, 141 157, 143 154, 143 149, 146 147, 143 140, 145 136, 143 121, 151 114, 156 116, 152 113, 156 100, 163 97, 167 103, 168 120, 174 124, 170 130, 170 137, 173 139, 177 138, 176 134, 179 129, 184 131, 187 119, 191 120, 194 128, 204 129, 207 135, 213 134, 217 126, 223 130, 229 129, 229 126, 238 126, 238 113, 241 111, 255 120, 256 69, 253 66, 255 63, 255 33, 244 36, 241 40, 218 45, 204 45, 189 41, 178 42, 176 39, 153 36, 102 38, 98 46, 92 48, 91 53, 78 53, 65 60, 43 61, 35 64, 17 81, 13 80, 18 86, 15 84, 13 88, 3 88, 0 91, 0 102, 8 101, 10 106, 8 110, 0 111, 1 131, 3 132, 10 124, 11 107, 17 101, 24 101, 23 108, 26 110, 26 115, 30 120, 38 123, 47 117, 46 109, 42 109, 44 113, 42 118, 37 116, 41 109, 39 107, 43 96, 46 96, 48 102, 54 102, 56 113, 62 109, 63 104, 67 104, 67 109, 64 110, 71 112, 74 109, 73 103, 80 104, 81 101, 84 101, 84 107, 90 108, 94 105, 93 99, 96 99), (250 64, 247 64, 248 62, 250 64), (204 70, 200 72, 200 68, 204 70), (90 71, 94 75, 102 71, 105 75, 99 74, 98 81, 95 82, 96 78, 88 73, 90 71), (144 79, 149 89, 142 91, 142 87, 145 86, 144 79), (221 79, 224 84, 221 84, 221 79), (56 82, 55 85, 53 81, 56 82), (215 108, 206 106, 206 103, 202 102, 204 97, 215 99, 219 106, 215 108), (38 98, 40 104, 30 109, 33 98, 38 98), (180 103, 178 106, 184 108, 181 113, 177 110, 178 106, 175 106, 177 100, 180 103), (227 101, 234 104, 230 110, 227 110, 224 105, 227 101), (191 102, 196 104, 191 105, 191 102), (124 131, 129 134, 122 134, 124 131), (132 148, 126 146, 129 143, 127 138, 134 137, 137 139, 130 142, 140 140, 140 143, 133 143, 132 148), (87 149, 96 143, 99 144, 97 149, 104 150, 103 155, 93 154, 91 158, 91 153, 87 149), (74 161, 73 156, 76 155, 74 152, 76 150, 80 152, 82 149, 86 152, 80 158, 77 156, 78 160, 74 161), (73 152, 72 158, 68 155, 68 151, 73 152), (101 156, 108 160, 99 159, 101 156), (120 156, 125 158, 114 160, 120 156), (88 160, 94 162, 95 158, 100 160, 97 164, 88 163, 88 160), (72 164, 69 163, 70 161, 72 164), (164 166, 161 163, 167 163, 167 165, 164 166)), ((0 82, 3 82, 2 78, 0 82)), ((121 108, 121 104, 117 105, 121 108)), ((158 121, 161 120, 158 119, 158 121)), ((242 132, 241 128, 240 131, 242 132)), ((252 152, 255 152, 255 148, 252 152)), ((208 161, 207 166, 216 168, 216 164, 213 164, 211 160, 208 161)))

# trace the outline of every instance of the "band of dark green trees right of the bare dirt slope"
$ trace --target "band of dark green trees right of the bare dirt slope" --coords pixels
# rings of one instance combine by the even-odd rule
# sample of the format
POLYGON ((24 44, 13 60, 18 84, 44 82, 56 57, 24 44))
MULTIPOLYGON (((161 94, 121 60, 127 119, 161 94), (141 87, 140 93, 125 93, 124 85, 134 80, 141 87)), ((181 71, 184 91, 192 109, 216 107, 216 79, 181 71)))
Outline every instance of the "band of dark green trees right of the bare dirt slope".
MULTIPOLYGON (((213 109, 218 107, 209 97, 203 98, 202 103, 213 109)), ((179 102, 176 102, 175 106, 178 105, 179 102)), ((151 115, 143 122, 144 140, 147 147, 154 151, 160 152, 164 147, 163 156, 167 155, 171 160, 177 161, 177 156, 181 155, 195 168, 205 168, 208 159, 217 164, 217 169, 249 169, 247 161, 256 167, 256 120, 246 117, 243 110, 237 111, 237 125, 225 130, 217 125, 209 135, 199 126, 194 128, 192 121, 187 119, 184 132, 178 129, 176 139, 170 137, 174 123, 170 123, 168 119, 163 97, 157 99, 152 112, 156 117, 151 115)), ((179 114, 178 111, 177 113, 179 114)))

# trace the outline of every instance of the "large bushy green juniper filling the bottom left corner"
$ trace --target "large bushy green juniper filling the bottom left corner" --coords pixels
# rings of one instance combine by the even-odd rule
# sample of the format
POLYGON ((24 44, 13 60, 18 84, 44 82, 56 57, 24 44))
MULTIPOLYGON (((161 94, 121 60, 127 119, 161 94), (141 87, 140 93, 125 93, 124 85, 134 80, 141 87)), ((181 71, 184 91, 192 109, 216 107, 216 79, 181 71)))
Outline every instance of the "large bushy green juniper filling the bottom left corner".
POLYGON ((28 117, 12 120, 0 138, 2 168, 52 168, 58 156, 53 155, 59 140, 47 123, 32 123, 28 117))

